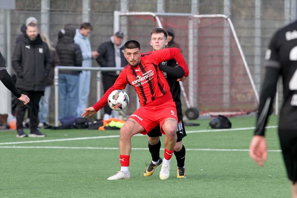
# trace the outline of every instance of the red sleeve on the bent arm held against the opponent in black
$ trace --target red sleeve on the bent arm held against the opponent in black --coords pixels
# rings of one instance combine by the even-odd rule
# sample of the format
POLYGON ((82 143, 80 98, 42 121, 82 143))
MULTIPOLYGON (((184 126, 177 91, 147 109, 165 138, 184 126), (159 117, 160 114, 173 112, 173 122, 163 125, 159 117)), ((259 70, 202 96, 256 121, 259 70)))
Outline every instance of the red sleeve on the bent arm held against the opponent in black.
POLYGON ((180 65, 181 68, 183 68, 184 76, 187 77, 189 75, 188 65, 184 59, 184 56, 181 54, 181 51, 178 48, 166 48, 152 51, 149 58, 151 58, 152 62, 154 62, 156 65, 159 65, 159 63, 163 61, 175 59, 177 64, 180 65))

